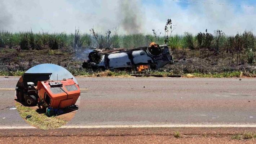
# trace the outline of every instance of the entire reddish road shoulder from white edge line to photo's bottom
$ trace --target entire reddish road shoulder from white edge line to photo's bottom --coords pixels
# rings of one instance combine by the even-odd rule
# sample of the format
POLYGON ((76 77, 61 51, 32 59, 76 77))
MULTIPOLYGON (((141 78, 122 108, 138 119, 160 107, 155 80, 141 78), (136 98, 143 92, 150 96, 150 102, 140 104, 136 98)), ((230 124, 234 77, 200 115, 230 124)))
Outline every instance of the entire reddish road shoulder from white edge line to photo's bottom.
POLYGON ((101 128, 101 129, 12 129, 1 130, 0 143, 246 143, 253 144, 256 139, 234 139, 234 135, 245 132, 256 132, 256 128, 248 127, 177 127, 177 128, 101 128), (175 138, 175 132, 180 137, 175 138))

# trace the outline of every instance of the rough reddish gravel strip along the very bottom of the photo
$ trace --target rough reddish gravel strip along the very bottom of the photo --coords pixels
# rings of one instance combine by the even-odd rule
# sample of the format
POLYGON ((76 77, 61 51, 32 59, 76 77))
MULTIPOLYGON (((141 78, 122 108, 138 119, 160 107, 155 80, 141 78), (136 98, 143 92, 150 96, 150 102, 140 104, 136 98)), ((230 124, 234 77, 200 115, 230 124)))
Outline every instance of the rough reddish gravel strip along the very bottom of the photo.
POLYGON ((191 136, 186 138, 174 138, 172 136, 159 136, 159 135, 150 135, 150 136, 66 136, 66 137, 15 137, 15 138, 0 138, 0 144, 17 144, 19 143, 45 143, 47 144, 89 144, 89 143, 98 143, 98 144, 255 144, 256 140, 233 140, 229 136, 216 138, 213 136, 209 137, 198 137, 191 136))

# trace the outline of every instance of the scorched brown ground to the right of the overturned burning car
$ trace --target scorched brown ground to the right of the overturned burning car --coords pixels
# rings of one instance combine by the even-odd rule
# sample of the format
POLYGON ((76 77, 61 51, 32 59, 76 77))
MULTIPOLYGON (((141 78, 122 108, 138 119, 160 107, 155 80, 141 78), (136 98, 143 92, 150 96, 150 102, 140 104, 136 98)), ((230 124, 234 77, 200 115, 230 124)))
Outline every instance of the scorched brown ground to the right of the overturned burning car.
POLYGON ((220 54, 212 55, 208 58, 199 58, 198 50, 175 50, 172 52, 174 64, 168 64, 162 70, 173 71, 177 74, 186 73, 225 73, 225 72, 243 72, 245 76, 256 74, 256 63, 248 64, 246 61, 237 62, 236 55, 220 54))

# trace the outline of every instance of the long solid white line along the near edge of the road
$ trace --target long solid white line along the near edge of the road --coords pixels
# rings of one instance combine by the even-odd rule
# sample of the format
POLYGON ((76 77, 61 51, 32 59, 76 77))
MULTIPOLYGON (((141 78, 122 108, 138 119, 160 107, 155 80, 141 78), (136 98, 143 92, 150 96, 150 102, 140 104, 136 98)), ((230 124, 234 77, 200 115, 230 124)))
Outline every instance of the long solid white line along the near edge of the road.
MULTIPOLYGON (((166 124, 166 125, 81 125, 81 126, 62 126, 60 129, 92 129, 92 128, 154 128, 154 127, 256 127, 256 124, 166 124)), ((33 126, 0 126, 0 129, 36 129, 33 126)))

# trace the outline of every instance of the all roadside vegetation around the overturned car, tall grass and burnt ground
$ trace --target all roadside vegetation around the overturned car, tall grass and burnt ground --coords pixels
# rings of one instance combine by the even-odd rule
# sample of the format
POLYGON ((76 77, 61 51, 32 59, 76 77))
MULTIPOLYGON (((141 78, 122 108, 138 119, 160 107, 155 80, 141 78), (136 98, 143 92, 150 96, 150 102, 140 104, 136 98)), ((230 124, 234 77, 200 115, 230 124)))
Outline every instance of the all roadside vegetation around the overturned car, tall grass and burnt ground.
POLYGON ((99 33, 48 33, 32 30, 12 33, 0 31, 0 75, 18 76, 41 63, 54 63, 67 68, 75 76, 129 76, 136 72, 102 72, 83 66, 87 56, 80 57, 88 48, 114 49, 148 46, 150 42, 168 44, 175 64, 143 74, 183 75, 194 77, 255 77, 256 36, 251 31, 226 35, 221 30, 208 30, 193 35, 173 35, 175 25, 168 19, 164 32, 120 35, 118 30, 99 33), (79 55, 79 57, 78 57, 79 55), (103 74, 102 74, 103 73, 103 74), (105 73, 105 74, 104 74, 105 73), (242 73, 242 74, 241 74, 242 73))

